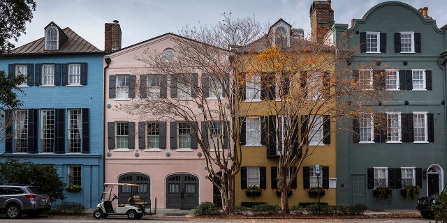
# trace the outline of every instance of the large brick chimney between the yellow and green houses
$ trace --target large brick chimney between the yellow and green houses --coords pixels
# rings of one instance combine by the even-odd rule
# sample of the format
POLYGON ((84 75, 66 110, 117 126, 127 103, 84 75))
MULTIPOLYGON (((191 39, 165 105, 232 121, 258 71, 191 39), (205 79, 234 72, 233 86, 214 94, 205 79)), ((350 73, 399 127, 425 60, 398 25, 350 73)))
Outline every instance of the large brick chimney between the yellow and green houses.
POLYGON ((323 38, 334 25, 334 10, 330 6, 331 0, 314 1, 310 6, 311 39, 323 43, 323 38))

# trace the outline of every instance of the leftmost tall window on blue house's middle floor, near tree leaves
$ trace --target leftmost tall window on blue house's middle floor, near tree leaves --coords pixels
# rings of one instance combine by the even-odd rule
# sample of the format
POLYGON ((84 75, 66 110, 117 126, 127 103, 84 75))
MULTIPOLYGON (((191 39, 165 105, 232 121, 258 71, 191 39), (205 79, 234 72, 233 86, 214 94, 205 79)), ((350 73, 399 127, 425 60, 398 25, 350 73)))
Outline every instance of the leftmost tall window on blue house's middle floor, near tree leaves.
POLYGON ((28 139, 28 111, 17 110, 15 112, 15 153, 27 152, 28 139))

